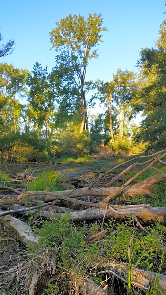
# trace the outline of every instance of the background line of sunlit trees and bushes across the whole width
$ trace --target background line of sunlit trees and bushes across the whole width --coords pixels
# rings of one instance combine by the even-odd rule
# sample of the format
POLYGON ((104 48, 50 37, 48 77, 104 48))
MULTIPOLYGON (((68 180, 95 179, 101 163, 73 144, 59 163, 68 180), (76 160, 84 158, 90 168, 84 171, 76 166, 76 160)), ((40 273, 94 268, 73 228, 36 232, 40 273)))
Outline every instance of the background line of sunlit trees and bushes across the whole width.
MULTIPOLYGON (((142 142, 147 152, 165 147, 166 139, 166 20, 154 48, 145 48, 138 73, 118 69, 108 81, 87 81, 90 61, 102 42, 101 14, 69 14, 50 32, 55 65, 49 73, 36 62, 32 72, 0 63, 0 150, 20 147, 51 155, 57 146, 89 152, 100 140, 142 142), (89 115, 96 102, 104 112, 89 115), (133 119, 141 114, 137 126, 133 119), (78 146, 78 148, 76 147, 78 146)), ((2 41, 2 35, 0 35, 2 41)), ((0 46, 0 57, 11 54, 14 41, 0 46)), ((110 65, 111 66, 111 65, 110 65)), ((14 157, 14 156, 13 156, 14 157)), ((33 156, 31 156, 33 158, 33 156)))

